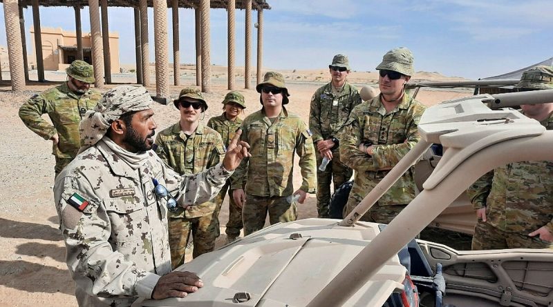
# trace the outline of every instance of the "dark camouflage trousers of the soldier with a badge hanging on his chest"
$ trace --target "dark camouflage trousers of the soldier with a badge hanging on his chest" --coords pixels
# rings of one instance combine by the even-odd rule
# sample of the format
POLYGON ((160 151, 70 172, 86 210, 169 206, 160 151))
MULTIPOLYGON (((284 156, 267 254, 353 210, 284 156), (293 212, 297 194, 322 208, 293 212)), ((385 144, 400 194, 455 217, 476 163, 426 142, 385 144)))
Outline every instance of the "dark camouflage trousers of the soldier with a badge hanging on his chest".
POLYGON ((319 217, 328 217, 328 205, 330 204, 330 181, 334 184, 334 192, 353 175, 353 170, 341 163, 338 150, 332 151, 332 160, 328 162, 325 170, 319 170, 323 158, 317 151, 317 212, 319 217))

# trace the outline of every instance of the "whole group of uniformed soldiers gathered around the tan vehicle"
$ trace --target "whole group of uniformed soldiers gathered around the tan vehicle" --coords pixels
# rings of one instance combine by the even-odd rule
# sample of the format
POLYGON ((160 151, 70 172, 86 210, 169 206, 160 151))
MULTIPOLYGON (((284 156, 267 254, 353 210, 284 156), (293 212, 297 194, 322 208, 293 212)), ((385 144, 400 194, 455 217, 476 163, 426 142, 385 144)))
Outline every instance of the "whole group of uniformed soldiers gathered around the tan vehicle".
MULTIPOLYGON (((285 108, 290 92, 279 72, 256 86, 261 109, 241 119, 240 92, 227 93, 223 113, 204 125, 208 108, 196 88, 181 90, 180 119, 158 133, 151 97, 142 87, 118 86, 101 95, 89 88, 93 68, 74 61, 68 79, 23 106, 26 126, 53 141, 55 204, 68 268, 81 306, 129 306, 137 297, 183 297, 203 286, 194 273, 169 273, 214 250, 218 213, 229 195, 228 241, 297 219, 297 204, 317 193, 319 217, 328 217, 331 183, 355 181, 344 214, 384 178, 420 140, 425 107, 405 91, 414 75, 407 48, 386 52, 379 93, 363 101, 346 81, 348 57, 328 66, 330 82, 310 102, 308 125, 285 108), (48 113, 53 125, 41 115, 48 113), (294 156, 301 186, 294 190, 294 156), (326 164, 326 166, 325 166, 326 164), (318 167, 317 167, 318 166, 318 167)), ((553 88, 553 68, 524 72, 518 90, 553 88)), ((553 103, 522 112, 553 128, 553 103)), ((480 221, 474 249, 545 248, 553 241, 553 164, 520 162, 498 168, 468 190, 480 221), (532 192, 521 188, 532 185, 532 192)), ((415 197, 406 172, 364 221, 389 223, 415 197)))

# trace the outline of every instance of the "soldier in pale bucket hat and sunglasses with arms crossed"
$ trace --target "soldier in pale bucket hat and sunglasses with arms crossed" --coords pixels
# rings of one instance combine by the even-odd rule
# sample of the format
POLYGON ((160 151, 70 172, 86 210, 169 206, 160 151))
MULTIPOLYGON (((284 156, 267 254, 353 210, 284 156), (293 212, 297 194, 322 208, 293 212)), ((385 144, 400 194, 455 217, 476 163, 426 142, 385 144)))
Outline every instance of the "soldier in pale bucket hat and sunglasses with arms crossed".
MULTIPOLYGON (((413 55, 395 48, 379 70, 380 95, 353 108, 340 134, 340 159, 355 170, 355 182, 344 210, 349 214, 388 171, 420 140, 418 123, 424 106, 409 97, 404 85, 415 73, 413 55)), ((363 217, 388 224, 415 198, 413 171, 407 171, 363 217)))

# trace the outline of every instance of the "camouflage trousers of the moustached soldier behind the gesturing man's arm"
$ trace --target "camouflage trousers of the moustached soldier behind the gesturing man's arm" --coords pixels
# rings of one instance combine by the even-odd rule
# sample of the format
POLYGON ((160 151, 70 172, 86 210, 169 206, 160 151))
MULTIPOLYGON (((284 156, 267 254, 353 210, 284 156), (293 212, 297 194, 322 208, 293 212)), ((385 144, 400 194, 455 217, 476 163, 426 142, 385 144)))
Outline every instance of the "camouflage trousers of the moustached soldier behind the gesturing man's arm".
POLYGON ((196 258, 215 249, 215 239, 219 232, 214 228, 213 214, 187 219, 185 217, 169 217, 169 248, 171 249, 171 265, 173 268, 185 263, 185 250, 191 237, 194 241, 192 257, 196 258))

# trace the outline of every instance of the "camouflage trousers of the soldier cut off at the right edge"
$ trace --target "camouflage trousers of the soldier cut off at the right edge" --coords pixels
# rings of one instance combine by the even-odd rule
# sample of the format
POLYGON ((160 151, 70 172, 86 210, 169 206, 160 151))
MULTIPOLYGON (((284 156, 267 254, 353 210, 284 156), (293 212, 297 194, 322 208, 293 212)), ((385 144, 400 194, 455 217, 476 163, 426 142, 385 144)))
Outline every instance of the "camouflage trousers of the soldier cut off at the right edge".
POLYGON ((527 233, 505 232, 490 224, 478 221, 472 237, 472 250, 497 250, 505 248, 549 248, 550 242, 527 233))

